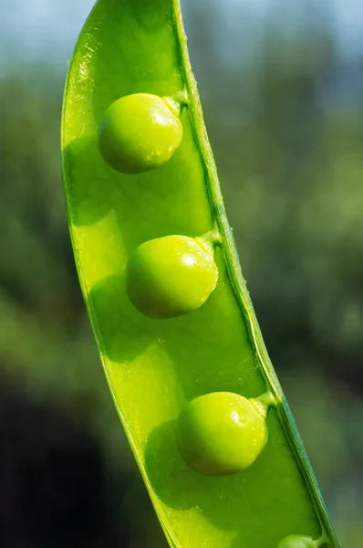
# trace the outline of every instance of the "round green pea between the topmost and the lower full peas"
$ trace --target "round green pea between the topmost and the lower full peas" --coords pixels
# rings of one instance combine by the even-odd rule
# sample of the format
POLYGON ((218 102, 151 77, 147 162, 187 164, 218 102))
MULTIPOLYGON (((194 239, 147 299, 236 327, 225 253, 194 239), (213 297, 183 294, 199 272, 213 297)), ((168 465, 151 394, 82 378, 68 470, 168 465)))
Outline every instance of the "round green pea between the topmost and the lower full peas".
POLYGON ((130 300, 151 318, 173 318, 199 309, 217 279, 213 255, 186 236, 149 240, 134 251, 127 265, 130 300))

